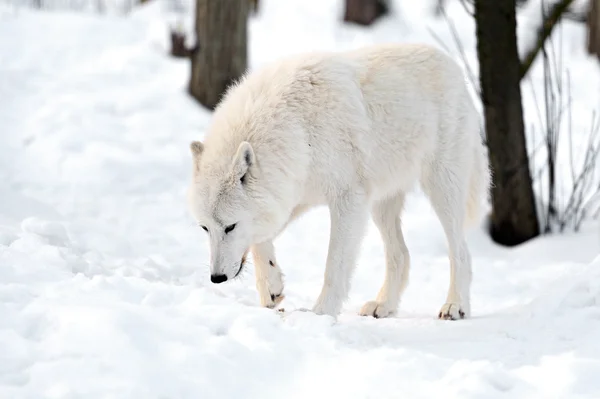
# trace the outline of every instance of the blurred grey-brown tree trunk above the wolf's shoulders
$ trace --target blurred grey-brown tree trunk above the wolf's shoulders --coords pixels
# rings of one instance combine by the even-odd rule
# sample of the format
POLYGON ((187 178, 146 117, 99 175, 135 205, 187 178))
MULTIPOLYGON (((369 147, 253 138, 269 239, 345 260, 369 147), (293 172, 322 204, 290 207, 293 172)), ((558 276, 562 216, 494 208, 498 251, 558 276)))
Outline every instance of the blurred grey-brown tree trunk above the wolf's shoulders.
POLYGON ((248 0, 196 0, 190 94, 213 110, 247 68, 248 0))

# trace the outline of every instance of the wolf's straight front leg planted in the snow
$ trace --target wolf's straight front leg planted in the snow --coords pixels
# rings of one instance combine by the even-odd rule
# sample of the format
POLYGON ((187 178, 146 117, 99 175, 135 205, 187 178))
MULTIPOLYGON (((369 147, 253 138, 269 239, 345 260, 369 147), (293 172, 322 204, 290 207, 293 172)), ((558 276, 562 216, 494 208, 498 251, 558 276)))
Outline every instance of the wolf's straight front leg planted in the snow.
POLYGON ((329 205, 331 232, 325 280, 313 312, 336 317, 350 291, 350 281, 368 220, 366 196, 346 193, 329 205))

